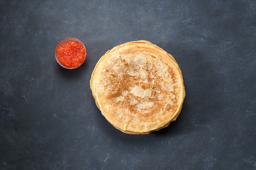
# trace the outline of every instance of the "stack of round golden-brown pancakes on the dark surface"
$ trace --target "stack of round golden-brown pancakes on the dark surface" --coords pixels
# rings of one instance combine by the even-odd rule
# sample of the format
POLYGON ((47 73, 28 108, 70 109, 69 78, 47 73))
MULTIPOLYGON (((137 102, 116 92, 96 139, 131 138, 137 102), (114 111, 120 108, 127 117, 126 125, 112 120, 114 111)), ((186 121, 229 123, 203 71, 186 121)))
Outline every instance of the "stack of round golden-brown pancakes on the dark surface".
POLYGON ((185 97, 176 60, 145 40, 107 51, 92 72, 90 88, 101 114, 127 134, 167 127, 177 119, 185 97))

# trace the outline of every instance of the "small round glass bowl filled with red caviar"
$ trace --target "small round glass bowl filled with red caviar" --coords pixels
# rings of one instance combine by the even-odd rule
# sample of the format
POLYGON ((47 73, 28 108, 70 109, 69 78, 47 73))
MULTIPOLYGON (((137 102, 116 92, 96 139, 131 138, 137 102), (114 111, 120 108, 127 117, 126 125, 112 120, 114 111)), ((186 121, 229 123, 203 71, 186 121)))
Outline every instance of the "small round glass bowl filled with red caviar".
POLYGON ((85 62, 86 49, 81 41, 67 38, 58 44, 55 57, 64 68, 78 68, 85 62))

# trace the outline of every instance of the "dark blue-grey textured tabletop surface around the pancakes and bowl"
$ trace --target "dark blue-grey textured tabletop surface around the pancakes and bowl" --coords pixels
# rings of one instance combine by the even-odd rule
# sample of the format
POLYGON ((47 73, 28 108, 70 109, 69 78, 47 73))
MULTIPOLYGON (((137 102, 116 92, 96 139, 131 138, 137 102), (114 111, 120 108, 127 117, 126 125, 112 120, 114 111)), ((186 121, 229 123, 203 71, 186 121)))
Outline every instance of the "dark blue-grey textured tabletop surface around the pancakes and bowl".
POLYGON ((1 0, 0 170, 256 170, 255 0, 1 0), (58 42, 87 60, 59 66, 58 42), (90 76, 109 49, 148 40, 183 73, 180 116, 150 135, 113 128, 90 76))

